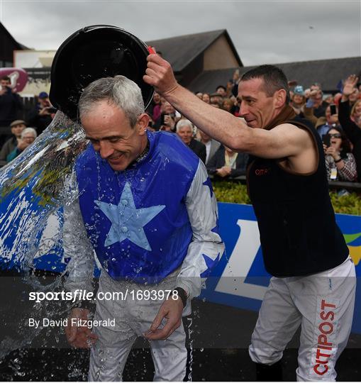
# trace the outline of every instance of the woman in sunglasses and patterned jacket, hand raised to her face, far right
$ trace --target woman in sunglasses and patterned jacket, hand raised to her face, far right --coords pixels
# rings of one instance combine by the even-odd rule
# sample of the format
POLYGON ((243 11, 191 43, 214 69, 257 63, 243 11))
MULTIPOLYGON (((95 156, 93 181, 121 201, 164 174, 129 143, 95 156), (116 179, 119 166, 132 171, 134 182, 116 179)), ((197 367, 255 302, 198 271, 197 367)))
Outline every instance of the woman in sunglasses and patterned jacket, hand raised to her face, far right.
POLYGON ((330 140, 329 145, 323 144, 328 180, 355 182, 357 180, 355 157, 351 153, 350 142, 344 131, 337 126, 331 128, 326 136, 330 140))

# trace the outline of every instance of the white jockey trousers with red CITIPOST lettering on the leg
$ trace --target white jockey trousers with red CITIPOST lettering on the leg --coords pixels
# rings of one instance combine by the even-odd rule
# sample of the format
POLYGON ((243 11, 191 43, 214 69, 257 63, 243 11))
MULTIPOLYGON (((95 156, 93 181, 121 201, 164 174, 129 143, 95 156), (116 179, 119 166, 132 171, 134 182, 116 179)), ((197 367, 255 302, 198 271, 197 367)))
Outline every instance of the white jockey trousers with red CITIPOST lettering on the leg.
POLYGON ((351 331, 355 289, 350 257, 317 274, 272 277, 252 333, 252 361, 273 365, 301 326, 297 380, 335 380, 335 362, 351 331))

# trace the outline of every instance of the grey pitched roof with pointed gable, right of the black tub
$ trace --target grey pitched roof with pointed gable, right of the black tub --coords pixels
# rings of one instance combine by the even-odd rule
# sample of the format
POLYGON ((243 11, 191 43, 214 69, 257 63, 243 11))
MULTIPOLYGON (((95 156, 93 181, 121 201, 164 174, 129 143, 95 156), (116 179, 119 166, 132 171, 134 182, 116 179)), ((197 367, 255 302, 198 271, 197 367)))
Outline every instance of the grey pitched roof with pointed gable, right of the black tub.
POLYGON ((165 60, 168 60, 173 67, 174 72, 181 72, 184 67, 201 55, 217 38, 225 35, 233 54, 239 65, 242 66, 240 57, 228 35, 226 29, 211 30, 209 32, 194 33, 191 35, 176 36, 173 38, 163 38, 162 40, 147 41, 155 50, 162 52, 165 60))

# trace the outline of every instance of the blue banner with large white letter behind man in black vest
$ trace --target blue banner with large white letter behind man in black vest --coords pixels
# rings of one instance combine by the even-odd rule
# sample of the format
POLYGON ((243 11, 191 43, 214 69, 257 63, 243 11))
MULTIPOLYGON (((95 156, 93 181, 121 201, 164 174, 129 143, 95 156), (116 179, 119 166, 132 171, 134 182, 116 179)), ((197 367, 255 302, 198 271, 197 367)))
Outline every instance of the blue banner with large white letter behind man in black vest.
MULTIPOLYGON (((213 270, 201 297, 218 304, 258 311, 271 276, 263 264, 255 213, 252 206, 241 204, 218 203, 218 209, 226 257, 213 270)), ((336 214, 336 221, 350 249, 358 282, 361 276, 361 216, 336 214)), ((361 333, 360 283, 356 289, 352 332, 361 333)))

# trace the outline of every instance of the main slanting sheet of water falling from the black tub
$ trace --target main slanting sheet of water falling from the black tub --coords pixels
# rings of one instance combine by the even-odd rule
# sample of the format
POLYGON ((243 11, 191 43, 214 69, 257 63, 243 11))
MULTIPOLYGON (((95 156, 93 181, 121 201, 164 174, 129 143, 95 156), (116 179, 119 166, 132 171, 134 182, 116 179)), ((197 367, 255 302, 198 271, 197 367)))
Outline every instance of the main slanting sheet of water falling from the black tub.
POLYGON ((62 206, 62 188, 84 148, 77 123, 57 112, 46 131, 0 171, 0 254, 6 268, 33 267, 38 235, 62 206))

